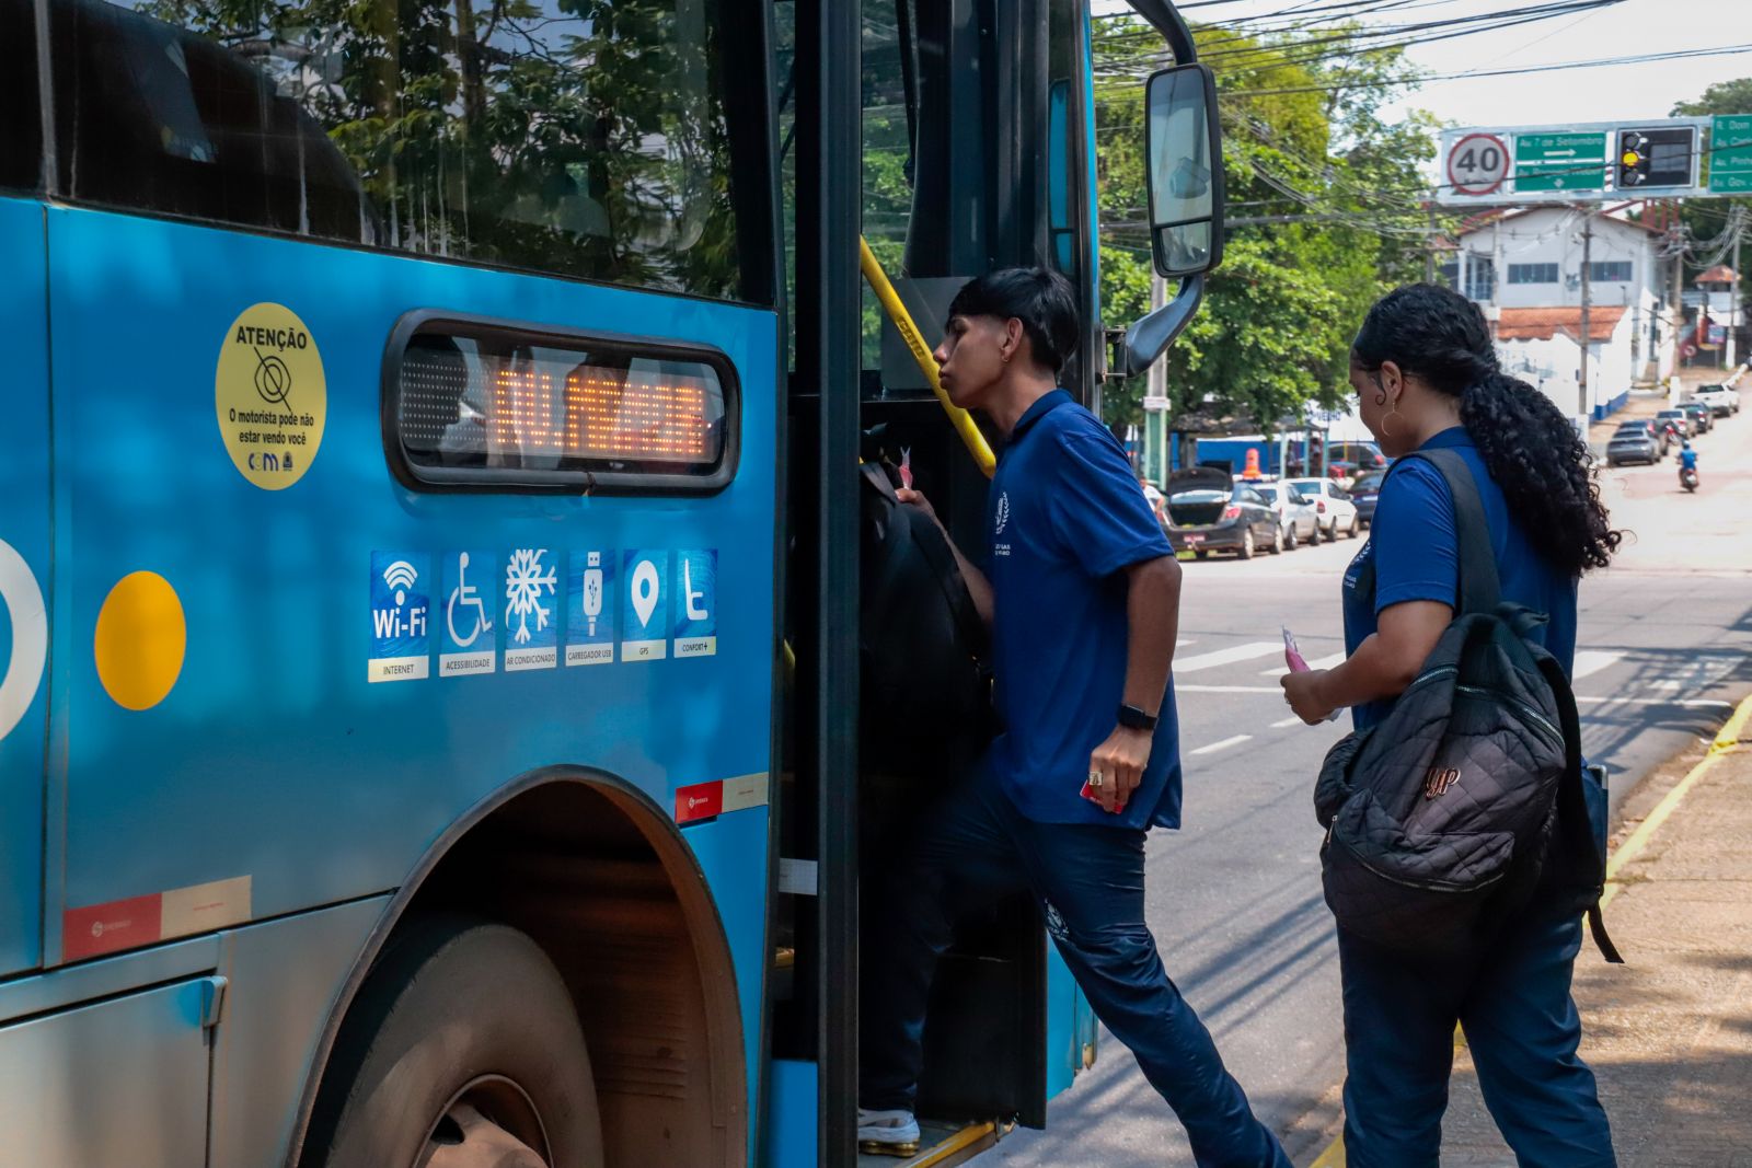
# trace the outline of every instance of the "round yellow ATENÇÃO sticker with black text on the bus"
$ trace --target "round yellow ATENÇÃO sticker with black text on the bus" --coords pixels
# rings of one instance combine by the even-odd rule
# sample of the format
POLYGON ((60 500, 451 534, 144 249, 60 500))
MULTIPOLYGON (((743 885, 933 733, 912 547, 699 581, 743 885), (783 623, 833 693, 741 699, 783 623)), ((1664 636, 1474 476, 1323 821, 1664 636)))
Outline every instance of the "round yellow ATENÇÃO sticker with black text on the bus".
POLYGON ((238 475, 263 490, 291 487, 317 457, 328 380, 310 329, 286 305, 261 303, 231 322, 214 375, 219 434, 238 475))

